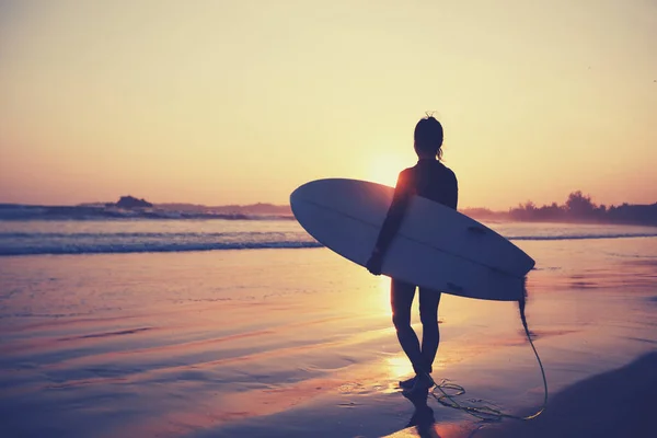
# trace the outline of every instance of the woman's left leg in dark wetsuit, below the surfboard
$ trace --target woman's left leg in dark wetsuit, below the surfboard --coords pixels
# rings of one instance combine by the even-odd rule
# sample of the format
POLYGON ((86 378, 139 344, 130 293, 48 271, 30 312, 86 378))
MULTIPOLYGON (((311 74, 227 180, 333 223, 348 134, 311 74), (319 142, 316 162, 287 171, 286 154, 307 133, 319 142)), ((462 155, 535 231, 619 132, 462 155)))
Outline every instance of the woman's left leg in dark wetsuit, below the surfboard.
POLYGON ((415 373, 427 372, 419 349, 419 341, 411 326, 411 304, 415 296, 415 285, 395 280, 390 286, 390 303, 392 307, 392 323, 396 330, 402 349, 411 360, 415 373))

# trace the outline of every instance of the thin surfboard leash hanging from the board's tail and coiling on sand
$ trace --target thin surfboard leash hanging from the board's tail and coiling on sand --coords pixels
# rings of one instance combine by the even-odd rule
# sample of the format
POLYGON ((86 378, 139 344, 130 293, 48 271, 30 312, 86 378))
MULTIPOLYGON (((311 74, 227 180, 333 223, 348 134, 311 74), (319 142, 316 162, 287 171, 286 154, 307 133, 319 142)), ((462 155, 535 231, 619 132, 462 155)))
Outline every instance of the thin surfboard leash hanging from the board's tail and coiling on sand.
POLYGON ((525 315, 525 306, 527 303, 527 289, 523 286, 522 298, 518 300, 518 310, 520 311, 520 321, 522 322, 522 327, 525 328, 525 334, 527 335, 527 341, 529 341, 529 345, 534 353, 537 361, 539 362, 539 367, 541 369, 541 376, 543 378, 543 405, 533 414, 527 416, 518 416, 511 414, 505 414, 502 410, 497 408, 494 404, 488 403, 488 405, 481 403, 486 403, 482 400, 474 401, 475 403, 480 403, 479 406, 469 406, 460 404, 454 400, 456 396, 463 395, 465 393, 465 389, 459 384, 449 382, 448 379, 442 379, 442 381, 431 390, 431 395, 438 403, 443 406, 451 407, 454 410, 466 412, 468 414, 483 420, 483 422, 500 422, 503 418, 512 418, 519 420, 529 420, 538 417, 545 411, 548 407, 548 379, 545 378, 545 369, 543 368, 543 362, 539 356, 539 351, 537 351, 537 347, 533 345, 533 341, 531 339, 531 333, 529 331, 529 326, 527 324, 527 316, 525 315), (453 391, 452 394, 448 394, 447 391, 453 391), (440 391, 441 394, 437 394, 436 391, 440 391), (495 406, 495 407, 494 407, 495 406))

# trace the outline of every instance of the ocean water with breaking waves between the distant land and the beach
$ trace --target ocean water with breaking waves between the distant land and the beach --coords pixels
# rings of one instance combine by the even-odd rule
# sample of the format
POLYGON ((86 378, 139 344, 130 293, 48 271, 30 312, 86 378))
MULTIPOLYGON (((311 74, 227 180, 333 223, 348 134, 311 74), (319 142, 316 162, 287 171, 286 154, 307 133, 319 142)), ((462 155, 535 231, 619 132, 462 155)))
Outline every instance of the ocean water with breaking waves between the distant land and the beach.
MULTIPOLYGON (((655 238, 657 228, 613 224, 488 223, 511 241, 655 238)), ((0 221, 0 256, 257 249, 320 244, 291 219, 114 219, 0 221)))

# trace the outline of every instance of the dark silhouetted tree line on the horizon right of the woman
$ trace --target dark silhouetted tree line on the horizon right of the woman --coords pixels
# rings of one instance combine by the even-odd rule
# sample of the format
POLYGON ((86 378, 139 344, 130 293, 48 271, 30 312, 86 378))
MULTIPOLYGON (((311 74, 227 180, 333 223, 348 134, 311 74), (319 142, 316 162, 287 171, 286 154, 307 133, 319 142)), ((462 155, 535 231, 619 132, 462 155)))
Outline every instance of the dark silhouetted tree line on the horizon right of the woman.
POLYGON ((485 208, 463 210, 465 215, 481 219, 499 219, 535 222, 604 222, 657 226, 657 203, 652 205, 621 206, 596 205, 589 195, 573 192, 563 205, 552 203, 538 207, 531 200, 505 211, 485 208))

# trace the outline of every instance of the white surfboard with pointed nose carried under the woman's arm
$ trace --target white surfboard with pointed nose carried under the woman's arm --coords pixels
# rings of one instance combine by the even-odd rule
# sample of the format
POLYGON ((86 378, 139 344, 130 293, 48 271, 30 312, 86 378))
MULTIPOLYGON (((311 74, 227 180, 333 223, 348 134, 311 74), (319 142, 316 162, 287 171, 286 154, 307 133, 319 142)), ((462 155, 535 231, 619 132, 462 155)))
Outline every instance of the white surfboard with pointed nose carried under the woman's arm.
MULTIPOLYGON (((365 266, 393 187, 347 178, 318 180, 290 195, 296 219, 320 243, 365 266)), ((516 301, 534 261, 488 227, 420 196, 408 205, 382 274, 468 298, 516 301)))

